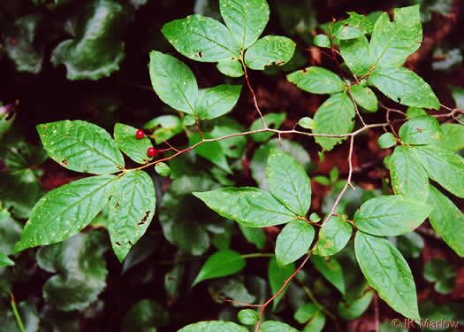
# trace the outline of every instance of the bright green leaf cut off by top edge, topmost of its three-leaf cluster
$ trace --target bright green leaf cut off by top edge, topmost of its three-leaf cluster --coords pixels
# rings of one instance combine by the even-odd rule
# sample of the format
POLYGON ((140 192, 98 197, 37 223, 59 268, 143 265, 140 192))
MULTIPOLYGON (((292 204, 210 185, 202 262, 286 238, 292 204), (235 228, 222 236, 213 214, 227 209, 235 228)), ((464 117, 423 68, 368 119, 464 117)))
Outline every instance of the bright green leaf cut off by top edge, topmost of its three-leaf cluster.
POLYGON ((241 50, 246 50, 256 42, 269 21, 266 0, 220 0, 219 6, 225 25, 241 50))

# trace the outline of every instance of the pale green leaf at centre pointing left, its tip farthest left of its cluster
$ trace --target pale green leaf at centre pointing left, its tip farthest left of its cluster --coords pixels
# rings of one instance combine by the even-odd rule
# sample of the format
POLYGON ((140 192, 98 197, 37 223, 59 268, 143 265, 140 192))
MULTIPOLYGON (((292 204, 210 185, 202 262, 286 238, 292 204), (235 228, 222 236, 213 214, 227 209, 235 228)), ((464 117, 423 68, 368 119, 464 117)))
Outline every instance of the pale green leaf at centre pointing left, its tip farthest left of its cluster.
POLYGON ((223 188, 194 192, 211 210, 224 218, 237 220, 244 226, 262 228, 285 224, 296 219, 269 192, 252 187, 223 188))

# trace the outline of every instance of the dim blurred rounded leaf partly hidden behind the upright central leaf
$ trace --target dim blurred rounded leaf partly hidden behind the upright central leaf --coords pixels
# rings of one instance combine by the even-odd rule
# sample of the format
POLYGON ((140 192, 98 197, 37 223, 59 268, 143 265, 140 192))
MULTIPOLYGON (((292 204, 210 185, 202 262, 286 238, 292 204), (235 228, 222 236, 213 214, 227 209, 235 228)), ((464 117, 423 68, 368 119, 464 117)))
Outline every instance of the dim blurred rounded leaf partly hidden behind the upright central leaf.
POLYGON ((285 153, 288 153, 306 170, 308 170, 310 164, 308 151, 306 151, 300 143, 286 140, 284 138, 281 140, 278 138, 271 139, 268 143, 264 143, 256 149, 255 155, 251 159, 251 174, 261 189, 268 189, 268 183, 266 181, 266 166, 268 163, 270 149, 272 147, 281 149, 285 153))

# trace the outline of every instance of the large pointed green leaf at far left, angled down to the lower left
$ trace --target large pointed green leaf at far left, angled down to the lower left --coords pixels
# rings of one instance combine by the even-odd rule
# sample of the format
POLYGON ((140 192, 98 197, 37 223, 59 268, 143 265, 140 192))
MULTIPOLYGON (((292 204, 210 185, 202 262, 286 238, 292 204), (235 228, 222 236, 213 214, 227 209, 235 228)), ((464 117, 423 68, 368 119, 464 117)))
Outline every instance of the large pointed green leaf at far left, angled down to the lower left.
POLYGON ((102 211, 117 179, 91 176, 49 191, 34 206, 14 251, 57 243, 79 233, 102 211))

